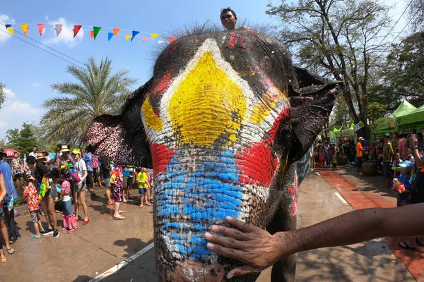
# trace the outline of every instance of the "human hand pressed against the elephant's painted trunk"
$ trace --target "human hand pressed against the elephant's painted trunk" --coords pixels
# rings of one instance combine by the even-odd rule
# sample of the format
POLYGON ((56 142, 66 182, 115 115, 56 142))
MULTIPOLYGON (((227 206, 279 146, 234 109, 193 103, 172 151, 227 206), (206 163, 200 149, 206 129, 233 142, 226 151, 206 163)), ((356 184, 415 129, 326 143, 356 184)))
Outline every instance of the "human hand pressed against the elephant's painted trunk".
POLYGON ((213 242, 207 244, 209 250, 245 264, 228 272, 228 279, 233 276, 259 273, 284 256, 281 253, 283 250, 281 238, 277 238, 276 235, 271 235, 259 227, 249 226, 230 216, 227 216, 225 221, 240 228, 241 231, 213 225, 211 231, 214 233, 206 232, 204 236, 206 240, 213 242))

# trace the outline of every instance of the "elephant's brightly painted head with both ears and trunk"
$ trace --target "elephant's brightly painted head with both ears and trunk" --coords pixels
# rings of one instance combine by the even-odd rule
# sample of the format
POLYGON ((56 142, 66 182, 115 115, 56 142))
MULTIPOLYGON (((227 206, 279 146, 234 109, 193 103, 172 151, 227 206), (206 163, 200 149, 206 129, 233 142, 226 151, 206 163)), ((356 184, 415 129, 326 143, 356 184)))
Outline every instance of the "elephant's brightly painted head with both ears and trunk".
POLYGON ((206 249, 204 232, 228 215, 266 228, 273 191, 295 179, 288 168, 310 149, 336 92, 336 82, 295 69, 269 35, 214 32, 172 42, 122 115, 93 121, 95 153, 153 168, 160 281, 225 280, 238 262, 206 249))

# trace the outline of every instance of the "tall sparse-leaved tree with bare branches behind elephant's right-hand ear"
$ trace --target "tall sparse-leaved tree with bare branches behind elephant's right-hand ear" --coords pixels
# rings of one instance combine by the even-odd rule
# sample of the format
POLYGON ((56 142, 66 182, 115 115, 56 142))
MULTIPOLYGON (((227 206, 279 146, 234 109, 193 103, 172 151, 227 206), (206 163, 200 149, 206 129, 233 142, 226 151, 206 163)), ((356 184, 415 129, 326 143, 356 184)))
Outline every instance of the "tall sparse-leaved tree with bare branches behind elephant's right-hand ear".
POLYGON ((367 125, 367 87, 382 60, 380 51, 386 49, 379 39, 387 34, 389 7, 369 0, 282 1, 268 6, 266 13, 281 20, 281 39, 294 49, 295 61, 344 82, 349 114, 355 123, 367 125))

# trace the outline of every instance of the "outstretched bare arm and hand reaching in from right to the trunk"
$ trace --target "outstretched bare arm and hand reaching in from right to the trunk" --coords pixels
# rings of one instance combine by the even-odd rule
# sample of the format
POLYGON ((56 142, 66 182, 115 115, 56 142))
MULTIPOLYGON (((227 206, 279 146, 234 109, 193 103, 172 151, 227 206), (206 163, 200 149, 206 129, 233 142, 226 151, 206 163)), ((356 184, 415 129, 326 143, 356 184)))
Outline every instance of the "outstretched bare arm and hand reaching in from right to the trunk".
POLYGON ((295 231, 269 234, 256 226, 227 217, 238 231, 211 226, 205 233, 208 249, 245 265, 232 269, 227 278, 258 273, 283 257, 296 252, 350 245, 379 237, 424 235, 424 203, 393 209, 360 209, 295 231), (411 216, 414 214, 414 216, 411 216), (225 235, 220 236, 215 233, 225 235))

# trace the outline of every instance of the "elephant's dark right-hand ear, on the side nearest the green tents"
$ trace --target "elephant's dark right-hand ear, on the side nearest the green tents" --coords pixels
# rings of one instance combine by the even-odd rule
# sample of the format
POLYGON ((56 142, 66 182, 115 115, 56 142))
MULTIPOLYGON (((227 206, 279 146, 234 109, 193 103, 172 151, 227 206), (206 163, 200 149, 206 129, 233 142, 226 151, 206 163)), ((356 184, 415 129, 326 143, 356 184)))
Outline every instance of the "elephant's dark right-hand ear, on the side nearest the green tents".
MULTIPOLYGON (((310 77, 310 73, 305 75, 310 81, 324 82, 318 76, 310 77)), ((300 89, 288 87, 288 96, 291 106, 290 124, 280 125, 281 140, 290 144, 288 161, 294 162, 305 156, 310 149, 315 138, 322 130, 324 123, 329 119, 331 109, 334 106, 334 99, 340 90, 341 82, 325 81, 325 84, 310 85, 300 89)))

